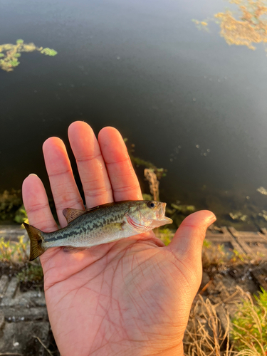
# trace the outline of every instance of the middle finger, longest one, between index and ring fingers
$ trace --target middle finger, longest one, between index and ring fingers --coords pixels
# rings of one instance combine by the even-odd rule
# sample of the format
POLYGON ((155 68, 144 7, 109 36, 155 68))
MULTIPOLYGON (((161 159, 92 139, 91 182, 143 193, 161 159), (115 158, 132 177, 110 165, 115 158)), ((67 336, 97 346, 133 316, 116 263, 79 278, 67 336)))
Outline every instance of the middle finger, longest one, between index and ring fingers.
POLYGON ((113 201, 105 162, 92 128, 82 121, 68 127, 70 146, 75 155, 87 207, 113 201))

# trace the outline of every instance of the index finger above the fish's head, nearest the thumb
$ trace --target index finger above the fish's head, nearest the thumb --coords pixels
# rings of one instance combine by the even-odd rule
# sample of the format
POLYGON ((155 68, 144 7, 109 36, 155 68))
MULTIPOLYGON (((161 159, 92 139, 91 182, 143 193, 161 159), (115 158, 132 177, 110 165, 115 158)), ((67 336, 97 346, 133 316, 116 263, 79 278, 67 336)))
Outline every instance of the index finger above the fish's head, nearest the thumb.
POLYGON ((115 201, 142 199, 140 184, 120 132, 114 127, 104 127, 99 132, 98 142, 115 201))

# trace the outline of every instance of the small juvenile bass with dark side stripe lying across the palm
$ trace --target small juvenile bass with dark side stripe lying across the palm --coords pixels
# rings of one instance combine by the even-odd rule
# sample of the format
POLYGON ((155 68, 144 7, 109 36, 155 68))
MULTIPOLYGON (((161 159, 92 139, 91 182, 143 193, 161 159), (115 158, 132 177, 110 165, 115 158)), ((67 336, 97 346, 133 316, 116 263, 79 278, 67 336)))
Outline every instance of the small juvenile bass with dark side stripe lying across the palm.
POLYGON ((31 241, 29 261, 47 248, 80 250, 142 234, 172 219, 165 216, 166 203, 154 200, 126 200, 98 205, 88 210, 66 208, 68 225, 53 232, 43 232, 23 223, 31 241))

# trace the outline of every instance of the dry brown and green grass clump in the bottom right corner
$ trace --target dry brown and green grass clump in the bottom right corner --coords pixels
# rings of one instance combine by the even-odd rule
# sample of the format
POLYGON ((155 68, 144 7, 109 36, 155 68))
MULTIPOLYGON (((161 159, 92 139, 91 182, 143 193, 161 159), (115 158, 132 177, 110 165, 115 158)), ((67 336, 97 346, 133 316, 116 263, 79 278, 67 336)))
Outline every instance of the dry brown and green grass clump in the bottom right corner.
POLYGON ((261 288, 256 304, 249 293, 237 288, 243 298, 234 320, 225 314, 222 328, 216 306, 198 295, 184 335, 185 356, 266 356, 267 292, 261 288))

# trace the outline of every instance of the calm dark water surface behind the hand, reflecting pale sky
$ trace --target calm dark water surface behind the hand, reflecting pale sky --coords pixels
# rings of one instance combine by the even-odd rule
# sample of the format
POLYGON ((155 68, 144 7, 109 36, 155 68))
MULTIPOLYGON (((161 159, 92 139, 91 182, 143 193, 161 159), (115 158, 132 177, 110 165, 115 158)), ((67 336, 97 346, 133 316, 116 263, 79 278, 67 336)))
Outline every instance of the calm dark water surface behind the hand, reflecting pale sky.
MULTIPOLYGON (((229 46, 211 21, 227 1, 0 0, 0 44, 54 48, 22 53, 0 70, 0 191, 34 172, 47 184, 41 146, 67 139, 74 120, 113 125, 135 155, 168 169, 161 199, 248 215, 267 210, 267 57, 263 44, 229 46)), ((234 11, 234 8, 232 8, 234 11)), ((235 8, 236 9, 236 8, 235 8)), ((140 177, 141 179, 142 177, 140 177)), ((248 226, 249 227, 249 226, 248 226)))

